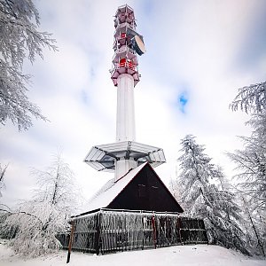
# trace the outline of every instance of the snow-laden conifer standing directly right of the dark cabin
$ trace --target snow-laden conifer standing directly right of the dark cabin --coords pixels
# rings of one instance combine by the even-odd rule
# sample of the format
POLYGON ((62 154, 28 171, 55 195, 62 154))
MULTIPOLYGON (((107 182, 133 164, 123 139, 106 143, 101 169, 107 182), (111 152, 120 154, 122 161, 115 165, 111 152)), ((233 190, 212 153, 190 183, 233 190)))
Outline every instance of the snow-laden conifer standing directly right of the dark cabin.
POLYGON ((223 189, 224 183, 222 189, 215 184, 224 180, 222 169, 210 162, 205 148, 196 143, 195 137, 184 137, 181 145, 183 154, 178 159, 181 171, 177 181, 185 214, 204 219, 210 243, 237 248, 248 254, 238 223, 240 208, 234 195, 223 189))

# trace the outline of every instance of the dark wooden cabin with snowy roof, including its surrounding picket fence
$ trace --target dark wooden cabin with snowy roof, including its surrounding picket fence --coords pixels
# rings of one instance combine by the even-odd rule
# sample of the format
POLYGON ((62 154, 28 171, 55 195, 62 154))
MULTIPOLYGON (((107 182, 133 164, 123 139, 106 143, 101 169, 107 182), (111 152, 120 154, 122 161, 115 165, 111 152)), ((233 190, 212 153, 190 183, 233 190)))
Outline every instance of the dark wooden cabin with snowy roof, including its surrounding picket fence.
MULTIPOLYGON (((106 254, 207 243, 203 221, 181 215, 183 208, 148 162, 108 181, 86 208, 72 217, 74 250, 106 254)), ((59 240, 68 246, 69 236, 59 240)))

